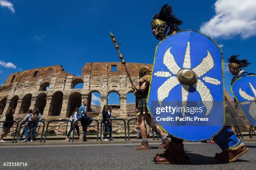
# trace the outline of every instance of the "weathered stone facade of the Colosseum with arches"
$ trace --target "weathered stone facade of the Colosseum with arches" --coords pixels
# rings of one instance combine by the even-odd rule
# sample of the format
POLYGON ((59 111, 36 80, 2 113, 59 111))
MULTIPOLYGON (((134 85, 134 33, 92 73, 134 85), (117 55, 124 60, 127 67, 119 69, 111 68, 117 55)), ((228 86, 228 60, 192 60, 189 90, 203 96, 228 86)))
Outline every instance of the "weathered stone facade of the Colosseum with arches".
MULTIPOLYGON (((151 67, 141 63, 126 65, 136 86, 139 80, 138 68, 141 65, 151 67)), ((80 106, 83 100, 88 100, 87 111, 93 117, 100 118, 99 110, 107 105, 110 92, 120 96, 120 109, 113 111, 114 116, 128 118, 126 96, 132 89, 125 69, 119 62, 87 63, 82 68, 81 77, 67 74, 61 65, 16 72, 9 75, 0 87, 0 117, 5 115, 8 108, 15 108, 16 119, 24 117, 29 109, 39 108, 44 120, 62 119, 70 117, 75 107, 80 106), (74 89, 78 83, 83 83, 83 87, 74 89), (101 95, 97 112, 92 112, 90 105, 92 92, 101 95)), ((131 115, 131 110, 128 112, 131 115)))

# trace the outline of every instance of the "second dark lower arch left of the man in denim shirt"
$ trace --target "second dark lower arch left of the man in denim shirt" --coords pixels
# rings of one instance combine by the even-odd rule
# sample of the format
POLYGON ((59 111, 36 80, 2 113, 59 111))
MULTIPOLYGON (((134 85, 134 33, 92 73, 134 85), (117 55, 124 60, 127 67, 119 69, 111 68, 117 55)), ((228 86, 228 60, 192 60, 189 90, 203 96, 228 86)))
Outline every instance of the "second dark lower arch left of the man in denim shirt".
POLYGON ((63 102, 63 92, 56 91, 51 97, 51 104, 49 107, 49 116, 59 116, 61 114, 63 102))

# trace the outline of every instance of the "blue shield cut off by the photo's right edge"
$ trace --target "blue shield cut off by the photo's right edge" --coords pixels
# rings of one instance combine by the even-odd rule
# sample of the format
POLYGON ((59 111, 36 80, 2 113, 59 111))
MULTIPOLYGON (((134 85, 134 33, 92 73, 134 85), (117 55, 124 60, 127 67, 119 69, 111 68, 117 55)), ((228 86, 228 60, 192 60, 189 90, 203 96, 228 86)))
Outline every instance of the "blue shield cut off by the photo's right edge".
POLYGON ((256 126, 256 76, 241 77, 231 91, 251 124, 256 126))

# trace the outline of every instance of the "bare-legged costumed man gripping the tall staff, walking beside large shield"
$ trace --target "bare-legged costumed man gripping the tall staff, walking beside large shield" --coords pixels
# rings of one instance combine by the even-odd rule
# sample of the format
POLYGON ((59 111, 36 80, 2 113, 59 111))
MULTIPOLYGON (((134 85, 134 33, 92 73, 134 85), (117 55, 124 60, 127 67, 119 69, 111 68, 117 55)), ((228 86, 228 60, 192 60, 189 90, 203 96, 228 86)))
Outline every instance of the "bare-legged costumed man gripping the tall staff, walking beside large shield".
POLYGON ((145 120, 147 124, 154 130, 162 140, 162 144, 158 147, 159 149, 166 149, 169 146, 169 139, 166 135, 164 135, 163 131, 156 125, 155 122, 151 120, 151 116, 149 115, 146 100, 148 97, 148 89, 149 82, 151 78, 151 70, 149 67, 141 66, 139 68, 139 88, 136 89, 135 86, 132 86, 134 90, 134 95, 136 95, 136 110, 138 115, 139 127, 141 130, 141 145, 138 145, 136 150, 151 150, 151 147, 148 145, 147 138, 147 128, 145 124, 145 120))

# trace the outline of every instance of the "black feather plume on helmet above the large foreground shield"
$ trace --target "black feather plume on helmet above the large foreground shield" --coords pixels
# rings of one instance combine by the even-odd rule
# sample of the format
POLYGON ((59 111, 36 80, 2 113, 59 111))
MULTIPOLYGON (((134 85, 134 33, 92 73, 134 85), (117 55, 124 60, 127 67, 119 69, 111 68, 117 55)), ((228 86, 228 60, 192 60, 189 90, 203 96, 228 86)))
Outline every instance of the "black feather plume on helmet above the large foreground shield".
POLYGON ((172 12, 172 6, 165 4, 161 8, 160 12, 154 15, 153 19, 163 20, 166 22, 168 27, 178 28, 180 30, 179 25, 182 25, 183 22, 182 20, 179 20, 175 15, 173 15, 172 12))

